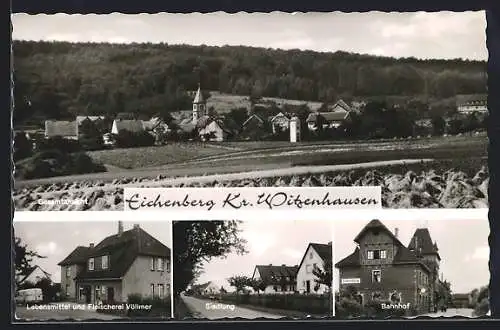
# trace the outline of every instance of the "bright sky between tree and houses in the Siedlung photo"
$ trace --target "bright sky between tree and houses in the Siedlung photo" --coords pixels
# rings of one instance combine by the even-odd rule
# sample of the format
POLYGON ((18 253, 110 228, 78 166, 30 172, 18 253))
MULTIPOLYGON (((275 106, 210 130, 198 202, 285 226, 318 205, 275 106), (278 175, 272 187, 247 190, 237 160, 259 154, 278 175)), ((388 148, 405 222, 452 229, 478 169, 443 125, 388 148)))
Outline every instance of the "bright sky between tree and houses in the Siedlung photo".
POLYGON ((240 224, 240 237, 247 240, 248 253, 212 259, 203 265, 204 272, 197 283, 211 281, 217 287, 234 291, 227 278, 252 277, 256 265, 299 265, 309 243, 328 244, 333 240, 332 224, 332 221, 309 220, 245 221, 240 224))

